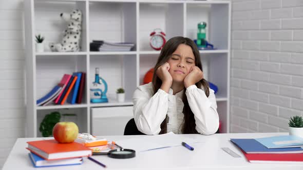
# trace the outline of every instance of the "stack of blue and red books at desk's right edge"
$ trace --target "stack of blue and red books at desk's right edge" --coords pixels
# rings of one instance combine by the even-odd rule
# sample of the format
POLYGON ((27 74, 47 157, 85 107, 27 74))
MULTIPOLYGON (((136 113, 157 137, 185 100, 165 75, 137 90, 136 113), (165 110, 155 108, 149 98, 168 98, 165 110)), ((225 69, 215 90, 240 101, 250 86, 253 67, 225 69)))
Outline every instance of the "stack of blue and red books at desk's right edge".
POLYGON ((231 139, 252 163, 302 163, 303 138, 291 135, 231 139))

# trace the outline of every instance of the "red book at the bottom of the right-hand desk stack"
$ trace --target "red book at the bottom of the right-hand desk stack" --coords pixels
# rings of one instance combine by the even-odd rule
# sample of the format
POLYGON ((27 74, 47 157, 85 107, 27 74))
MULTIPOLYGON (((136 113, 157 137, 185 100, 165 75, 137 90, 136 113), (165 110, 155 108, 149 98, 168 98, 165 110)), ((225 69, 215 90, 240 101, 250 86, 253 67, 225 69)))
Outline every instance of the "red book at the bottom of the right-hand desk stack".
POLYGON ((302 163, 303 153, 299 154, 246 154, 246 159, 251 163, 302 163))

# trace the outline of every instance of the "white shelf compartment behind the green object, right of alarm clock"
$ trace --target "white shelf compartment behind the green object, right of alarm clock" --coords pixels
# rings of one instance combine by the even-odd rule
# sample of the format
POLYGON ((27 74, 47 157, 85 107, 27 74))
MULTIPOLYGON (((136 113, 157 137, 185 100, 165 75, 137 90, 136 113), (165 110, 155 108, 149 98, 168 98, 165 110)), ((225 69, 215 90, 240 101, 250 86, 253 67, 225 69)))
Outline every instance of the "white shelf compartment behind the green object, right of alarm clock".
POLYGON ((186 3, 186 34, 197 39, 198 23, 206 22, 206 40, 218 50, 229 49, 229 3, 186 3), (197 17, 198 16, 198 17, 197 17), (199 19, 197 19, 199 18, 199 19))

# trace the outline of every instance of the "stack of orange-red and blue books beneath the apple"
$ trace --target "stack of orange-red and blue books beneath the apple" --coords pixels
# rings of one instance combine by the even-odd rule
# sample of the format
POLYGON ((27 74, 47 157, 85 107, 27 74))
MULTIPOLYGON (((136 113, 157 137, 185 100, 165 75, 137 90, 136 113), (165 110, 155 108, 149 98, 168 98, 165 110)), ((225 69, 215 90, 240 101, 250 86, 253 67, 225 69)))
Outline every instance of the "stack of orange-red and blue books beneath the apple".
POLYGON ((82 164, 83 157, 92 155, 83 144, 58 143, 54 139, 27 142, 29 158, 34 167, 82 164))

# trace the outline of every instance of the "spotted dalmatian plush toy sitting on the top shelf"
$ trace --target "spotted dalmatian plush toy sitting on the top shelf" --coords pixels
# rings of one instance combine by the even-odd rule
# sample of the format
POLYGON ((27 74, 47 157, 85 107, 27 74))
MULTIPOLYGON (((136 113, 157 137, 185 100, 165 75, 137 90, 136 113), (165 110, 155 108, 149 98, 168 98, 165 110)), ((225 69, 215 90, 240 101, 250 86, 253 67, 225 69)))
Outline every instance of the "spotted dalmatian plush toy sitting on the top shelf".
POLYGON ((51 51, 75 52, 80 51, 80 40, 82 31, 82 12, 73 10, 71 13, 61 13, 61 18, 68 23, 67 29, 60 44, 51 43, 51 51))

